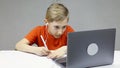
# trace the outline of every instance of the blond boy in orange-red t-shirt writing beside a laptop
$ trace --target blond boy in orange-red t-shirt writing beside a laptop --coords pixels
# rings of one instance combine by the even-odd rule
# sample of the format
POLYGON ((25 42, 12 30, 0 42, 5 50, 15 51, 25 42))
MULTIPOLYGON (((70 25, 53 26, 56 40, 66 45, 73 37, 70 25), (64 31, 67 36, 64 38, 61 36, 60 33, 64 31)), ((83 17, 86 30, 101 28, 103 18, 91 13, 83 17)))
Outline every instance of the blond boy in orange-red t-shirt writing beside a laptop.
POLYGON ((51 4, 46 12, 45 25, 30 31, 16 44, 16 49, 52 59, 62 57, 67 51, 67 34, 74 31, 68 25, 68 14, 63 4, 51 4), (38 47, 31 46, 34 43, 38 47))

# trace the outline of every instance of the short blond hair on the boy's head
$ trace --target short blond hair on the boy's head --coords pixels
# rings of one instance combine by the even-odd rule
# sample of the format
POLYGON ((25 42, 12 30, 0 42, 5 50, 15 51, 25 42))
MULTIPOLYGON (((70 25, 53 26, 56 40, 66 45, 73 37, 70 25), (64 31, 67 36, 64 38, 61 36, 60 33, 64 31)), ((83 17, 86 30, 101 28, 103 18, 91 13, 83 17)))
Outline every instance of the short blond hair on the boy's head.
POLYGON ((69 11, 63 4, 53 3, 47 9, 46 19, 48 22, 63 21, 68 14, 69 11))

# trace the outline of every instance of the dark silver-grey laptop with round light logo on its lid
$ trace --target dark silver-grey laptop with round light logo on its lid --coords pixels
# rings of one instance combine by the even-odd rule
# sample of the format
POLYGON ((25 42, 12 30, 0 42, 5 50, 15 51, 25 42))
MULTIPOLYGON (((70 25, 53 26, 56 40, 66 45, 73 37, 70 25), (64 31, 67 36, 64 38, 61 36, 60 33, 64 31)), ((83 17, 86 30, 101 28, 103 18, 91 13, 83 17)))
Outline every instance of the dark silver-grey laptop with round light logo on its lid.
POLYGON ((115 28, 69 33, 66 68, 112 64, 115 34, 115 28))

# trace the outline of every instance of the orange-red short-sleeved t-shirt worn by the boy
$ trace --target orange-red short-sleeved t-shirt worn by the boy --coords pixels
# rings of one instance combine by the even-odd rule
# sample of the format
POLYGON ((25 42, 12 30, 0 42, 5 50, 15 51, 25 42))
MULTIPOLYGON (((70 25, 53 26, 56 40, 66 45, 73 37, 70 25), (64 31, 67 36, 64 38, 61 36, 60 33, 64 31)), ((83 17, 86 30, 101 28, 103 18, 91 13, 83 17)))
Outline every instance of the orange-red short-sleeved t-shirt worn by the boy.
POLYGON ((61 46, 67 45, 67 34, 69 32, 74 32, 74 30, 67 25, 66 30, 60 38, 54 38, 52 35, 48 33, 46 26, 37 26, 32 31, 30 31, 25 38, 29 40, 30 45, 37 44, 39 47, 44 46, 40 35, 43 36, 44 40, 46 40, 46 44, 49 50, 55 50, 60 48, 61 46))

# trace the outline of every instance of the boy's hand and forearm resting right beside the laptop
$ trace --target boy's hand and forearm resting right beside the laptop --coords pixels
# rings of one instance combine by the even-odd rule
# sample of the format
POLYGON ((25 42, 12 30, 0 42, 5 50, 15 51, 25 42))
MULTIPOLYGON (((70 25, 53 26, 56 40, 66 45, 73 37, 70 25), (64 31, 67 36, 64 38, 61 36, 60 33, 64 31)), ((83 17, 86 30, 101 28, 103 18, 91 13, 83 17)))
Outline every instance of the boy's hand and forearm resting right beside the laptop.
POLYGON ((51 51, 47 57, 51 59, 61 58, 66 54, 66 52, 67 52, 67 46, 62 46, 57 50, 51 51))

